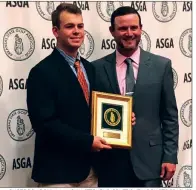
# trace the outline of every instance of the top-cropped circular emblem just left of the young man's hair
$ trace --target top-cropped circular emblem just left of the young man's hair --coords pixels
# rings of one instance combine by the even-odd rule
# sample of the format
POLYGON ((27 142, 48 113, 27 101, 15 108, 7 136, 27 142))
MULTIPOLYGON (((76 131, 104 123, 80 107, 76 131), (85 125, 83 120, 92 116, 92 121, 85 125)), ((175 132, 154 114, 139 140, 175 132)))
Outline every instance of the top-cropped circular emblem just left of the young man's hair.
POLYGON ((46 19, 51 21, 51 15, 52 12, 56 9, 56 7, 60 4, 61 2, 53 2, 53 1, 38 1, 36 2, 36 8, 37 12, 39 15, 46 19))

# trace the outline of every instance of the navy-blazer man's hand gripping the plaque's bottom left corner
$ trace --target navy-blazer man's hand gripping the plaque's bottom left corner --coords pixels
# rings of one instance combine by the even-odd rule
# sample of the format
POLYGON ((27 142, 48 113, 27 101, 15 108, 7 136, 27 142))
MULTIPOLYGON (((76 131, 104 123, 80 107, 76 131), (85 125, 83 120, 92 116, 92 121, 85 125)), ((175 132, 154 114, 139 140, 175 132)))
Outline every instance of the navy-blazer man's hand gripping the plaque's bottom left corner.
POLYGON ((101 137, 94 137, 92 149, 98 152, 102 149, 112 149, 112 147, 101 137))

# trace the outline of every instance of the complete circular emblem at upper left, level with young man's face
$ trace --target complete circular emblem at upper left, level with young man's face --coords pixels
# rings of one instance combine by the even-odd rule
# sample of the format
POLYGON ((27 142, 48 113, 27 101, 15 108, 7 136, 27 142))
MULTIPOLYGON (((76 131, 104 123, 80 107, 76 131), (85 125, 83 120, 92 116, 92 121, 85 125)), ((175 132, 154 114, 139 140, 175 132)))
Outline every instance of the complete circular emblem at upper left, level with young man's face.
POLYGON ((5 54, 15 61, 28 59, 34 52, 35 40, 33 35, 25 28, 15 27, 9 29, 3 37, 5 54))

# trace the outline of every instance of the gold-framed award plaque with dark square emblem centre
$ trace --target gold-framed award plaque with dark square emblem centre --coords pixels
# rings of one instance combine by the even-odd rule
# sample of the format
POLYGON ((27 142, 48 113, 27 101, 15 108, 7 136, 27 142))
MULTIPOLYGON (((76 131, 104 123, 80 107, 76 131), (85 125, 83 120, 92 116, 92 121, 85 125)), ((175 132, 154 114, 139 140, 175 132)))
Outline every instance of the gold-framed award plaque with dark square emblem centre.
POLYGON ((91 134, 115 148, 132 147, 132 96, 92 92, 91 134))

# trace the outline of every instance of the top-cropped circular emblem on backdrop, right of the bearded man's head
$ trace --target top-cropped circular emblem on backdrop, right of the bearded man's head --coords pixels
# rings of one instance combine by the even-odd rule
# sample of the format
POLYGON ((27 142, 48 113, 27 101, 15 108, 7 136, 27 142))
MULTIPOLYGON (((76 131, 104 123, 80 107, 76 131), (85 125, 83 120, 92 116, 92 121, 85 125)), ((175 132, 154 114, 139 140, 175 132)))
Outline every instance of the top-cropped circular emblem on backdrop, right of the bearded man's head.
POLYGON ((159 22, 169 22, 171 21, 177 12, 176 2, 153 2, 152 3, 152 12, 154 17, 159 22))

